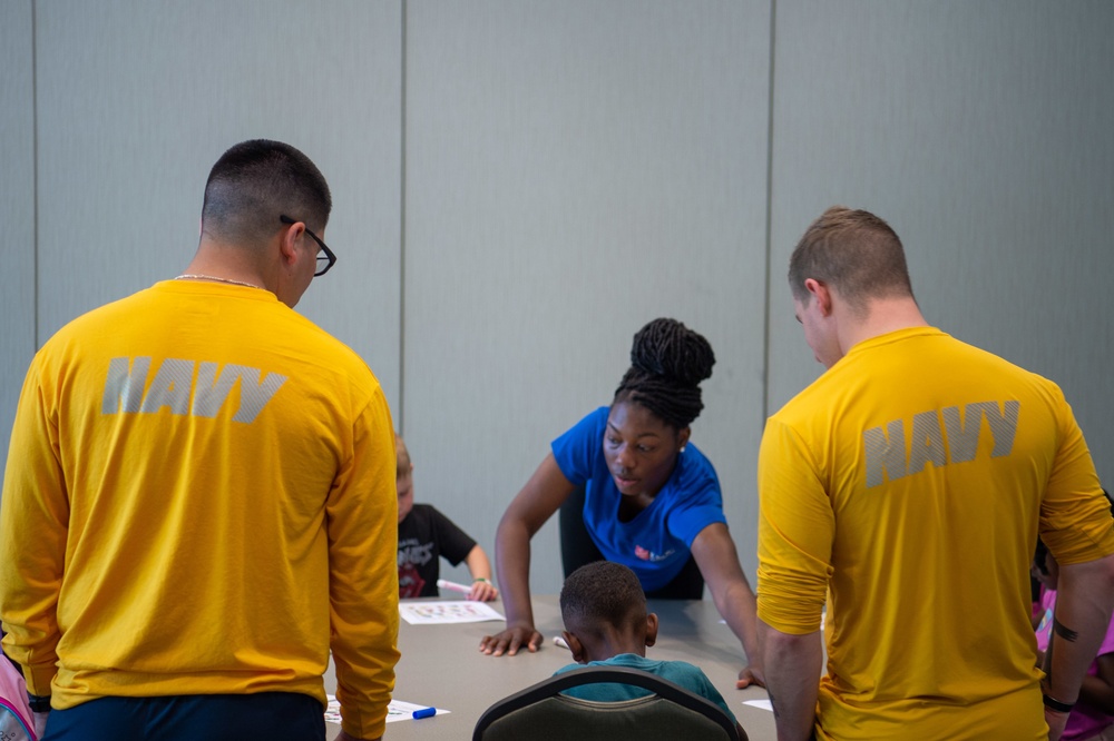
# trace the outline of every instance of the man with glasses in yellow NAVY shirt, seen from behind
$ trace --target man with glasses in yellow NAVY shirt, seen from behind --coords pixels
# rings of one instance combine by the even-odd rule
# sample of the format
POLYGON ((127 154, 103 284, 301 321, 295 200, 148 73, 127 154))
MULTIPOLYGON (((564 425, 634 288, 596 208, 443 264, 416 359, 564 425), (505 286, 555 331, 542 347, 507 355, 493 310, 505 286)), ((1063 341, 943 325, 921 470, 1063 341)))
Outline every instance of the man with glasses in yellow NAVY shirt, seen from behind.
POLYGON ((35 356, 0 500, 0 616, 46 739, 377 739, 399 659, 394 433, 293 312, 335 261, 317 168, 226 151, 177 278, 35 356), (51 710, 52 708, 52 710, 51 710))

